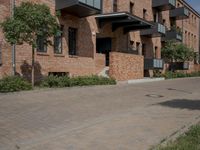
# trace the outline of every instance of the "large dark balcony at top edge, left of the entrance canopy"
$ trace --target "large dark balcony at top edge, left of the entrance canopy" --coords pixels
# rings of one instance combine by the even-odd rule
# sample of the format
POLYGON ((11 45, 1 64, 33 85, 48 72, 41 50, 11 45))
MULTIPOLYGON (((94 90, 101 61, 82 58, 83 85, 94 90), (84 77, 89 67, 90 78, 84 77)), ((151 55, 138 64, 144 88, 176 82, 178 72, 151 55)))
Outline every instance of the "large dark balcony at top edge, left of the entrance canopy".
POLYGON ((101 0, 56 0, 56 10, 87 17, 101 13, 101 0))

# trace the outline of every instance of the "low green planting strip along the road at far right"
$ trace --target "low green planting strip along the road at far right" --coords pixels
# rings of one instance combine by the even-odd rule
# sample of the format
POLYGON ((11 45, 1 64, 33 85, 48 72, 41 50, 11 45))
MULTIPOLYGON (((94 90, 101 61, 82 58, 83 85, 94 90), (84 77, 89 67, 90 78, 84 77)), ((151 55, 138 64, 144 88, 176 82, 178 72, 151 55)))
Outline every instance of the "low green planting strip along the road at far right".
POLYGON ((199 72, 192 72, 192 73, 167 71, 164 74, 154 73, 154 77, 164 77, 166 79, 200 77, 200 71, 199 72))

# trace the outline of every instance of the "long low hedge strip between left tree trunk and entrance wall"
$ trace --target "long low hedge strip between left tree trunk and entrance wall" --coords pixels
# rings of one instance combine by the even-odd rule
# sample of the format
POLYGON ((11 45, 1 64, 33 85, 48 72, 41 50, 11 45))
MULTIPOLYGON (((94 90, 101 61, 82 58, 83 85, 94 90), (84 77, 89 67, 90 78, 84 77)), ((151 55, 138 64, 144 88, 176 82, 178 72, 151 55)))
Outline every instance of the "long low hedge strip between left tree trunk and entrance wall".
POLYGON ((48 76, 41 82, 42 87, 72 87, 72 86, 90 86, 90 85, 114 85, 116 81, 113 79, 98 77, 98 76, 85 76, 73 77, 67 76, 48 76))

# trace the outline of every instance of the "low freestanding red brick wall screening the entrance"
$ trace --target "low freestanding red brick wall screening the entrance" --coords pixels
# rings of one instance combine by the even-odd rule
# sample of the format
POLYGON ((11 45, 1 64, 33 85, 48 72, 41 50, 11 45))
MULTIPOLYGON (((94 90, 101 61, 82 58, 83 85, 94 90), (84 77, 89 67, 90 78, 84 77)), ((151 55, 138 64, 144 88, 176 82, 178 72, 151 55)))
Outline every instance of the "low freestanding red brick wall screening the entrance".
POLYGON ((143 56, 111 52, 109 75, 116 80, 141 79, 144 77, 143 56))

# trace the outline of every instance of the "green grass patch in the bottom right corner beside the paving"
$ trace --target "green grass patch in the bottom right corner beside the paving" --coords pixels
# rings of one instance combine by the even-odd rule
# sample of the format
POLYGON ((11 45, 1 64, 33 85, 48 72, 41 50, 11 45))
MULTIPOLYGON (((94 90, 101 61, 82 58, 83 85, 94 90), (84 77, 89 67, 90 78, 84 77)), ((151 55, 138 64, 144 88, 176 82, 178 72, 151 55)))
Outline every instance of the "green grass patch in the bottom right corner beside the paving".
POLYGON ((200 150, 200 125, 193 126, 187 133, 165 147, 155 150, 200 150))

